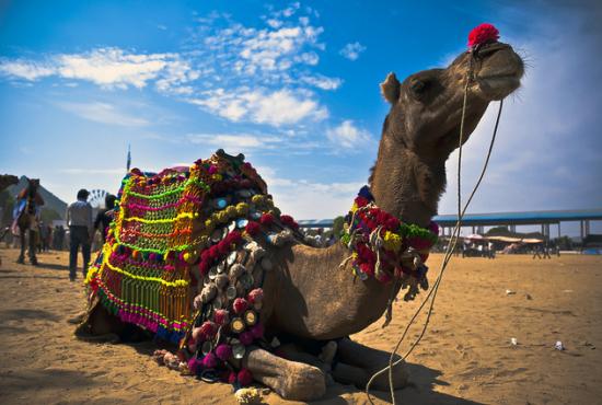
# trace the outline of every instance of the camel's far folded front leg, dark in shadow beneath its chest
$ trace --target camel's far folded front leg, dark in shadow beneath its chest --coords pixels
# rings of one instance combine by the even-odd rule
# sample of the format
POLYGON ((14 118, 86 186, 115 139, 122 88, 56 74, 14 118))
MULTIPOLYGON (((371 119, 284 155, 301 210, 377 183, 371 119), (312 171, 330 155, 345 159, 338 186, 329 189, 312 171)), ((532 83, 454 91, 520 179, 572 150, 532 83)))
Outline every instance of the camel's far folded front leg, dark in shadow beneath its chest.
MULTIPOLYGON (((354 384, 358 387, 366 387, 370 378, 389 364, 390 352, 372 349, 360 345, 349 338, 338 342, 339 362, 333 369, 333 377, 336 381, 345 384, 354 384)), ((400 359, 395 356, 394 362, 400 359)), ((407 384, 407 371, 402 361, 393 368, 393 386, 402 389, 407 384)), ((389 390, 389 371, 377 378, 371 387, 379 391, 389 390)))

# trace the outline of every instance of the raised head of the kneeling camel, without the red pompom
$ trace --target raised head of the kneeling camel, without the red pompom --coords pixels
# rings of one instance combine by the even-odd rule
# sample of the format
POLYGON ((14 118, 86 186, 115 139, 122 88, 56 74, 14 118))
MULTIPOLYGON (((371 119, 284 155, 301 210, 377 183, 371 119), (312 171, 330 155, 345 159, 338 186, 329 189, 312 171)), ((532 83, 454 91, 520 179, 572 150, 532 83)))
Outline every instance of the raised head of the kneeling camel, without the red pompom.
POLYGON ((384 135, 425 159, 445 160, 459 146, 464 89, 468 93, 463 141, 490 101, 520 86, 523 61, 507 44, 494 42, 461 54, 447 69, 429 69, 400 83, 390 73, 381 84, 391 103, 384 135))

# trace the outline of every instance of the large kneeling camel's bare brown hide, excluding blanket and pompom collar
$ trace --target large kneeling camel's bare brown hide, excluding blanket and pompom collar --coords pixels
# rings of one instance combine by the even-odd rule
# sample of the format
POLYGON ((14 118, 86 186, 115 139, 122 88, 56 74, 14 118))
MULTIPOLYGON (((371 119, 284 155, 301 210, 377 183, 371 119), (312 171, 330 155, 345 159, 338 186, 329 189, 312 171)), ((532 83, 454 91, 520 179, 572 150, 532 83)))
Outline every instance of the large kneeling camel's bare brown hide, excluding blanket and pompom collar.
MULTIPOLYGON (((426 228, 445 188, 445 161, 459 147, 464 92, 463 142, 488 104, 517 90, 522 76, 522 59, 510 45, 498 42, 461 54, 444 69, 420 71, 403 82, 390 73, 381 91, 391 109, 369 177, 375 204, 406 223, 426 228)), ((261 320, 266 336, 292 339, 282 345, 281 356, 255 346, 233 363, 287 400, 320 398, 331 375, 364 387, 387 364, 390 354, 348 336, 379 320, 400 286, 355 278, 343 244, 317 248, 293 243, 273 248, 269 255, 274 266, 265 273, 261 320), (312 354, 312 347, 322 347, 322 352, 312 354)), ((102 305, 90 312, 86 323, 95 334, 124 327, 102 305)), ((407 378, 400 363, 393 370, 394 389, 406 385, 407 378)), ((389 381, 383 375, 372 386, 386 390, 389 381)))

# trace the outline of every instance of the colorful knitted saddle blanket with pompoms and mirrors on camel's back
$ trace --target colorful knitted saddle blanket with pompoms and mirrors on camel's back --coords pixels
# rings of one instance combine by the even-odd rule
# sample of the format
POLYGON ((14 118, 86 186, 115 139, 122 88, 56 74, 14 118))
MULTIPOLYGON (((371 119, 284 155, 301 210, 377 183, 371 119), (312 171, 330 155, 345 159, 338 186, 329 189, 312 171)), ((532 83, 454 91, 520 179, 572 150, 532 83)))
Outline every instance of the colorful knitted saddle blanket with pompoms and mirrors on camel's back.
POLYGON ((180 344, 189 369, 215 368, 261 339, 267 246, 302 240, 244 157, 132 170, 86 282, 124 322, 180 344), (195 363, 198 362, 197 363, 195 363))

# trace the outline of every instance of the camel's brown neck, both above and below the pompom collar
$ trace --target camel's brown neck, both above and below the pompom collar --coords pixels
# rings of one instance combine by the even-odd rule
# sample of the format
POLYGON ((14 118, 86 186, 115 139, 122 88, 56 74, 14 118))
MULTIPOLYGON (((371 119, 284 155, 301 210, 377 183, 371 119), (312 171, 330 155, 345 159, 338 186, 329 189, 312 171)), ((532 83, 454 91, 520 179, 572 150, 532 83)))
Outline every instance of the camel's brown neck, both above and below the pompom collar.
MULTIPOLYGON (((387 144, 383 137, 371 190, 381 209, 404 222, 427 227, 437 212, 444 177, 443 163, 429 164, 405 148, 387 144)), ((362 331, 383 314, 393 285, 374 278, 356 279, 349 264, 339 267, 347 257, 349 251, 340 244, 327 250, 296 248, 288 269, 290 280, 282 286, 281 294, 296 297, 301 292, 312 305, 282 305, 278 317, 285 331, 329 339, 362 331)))

